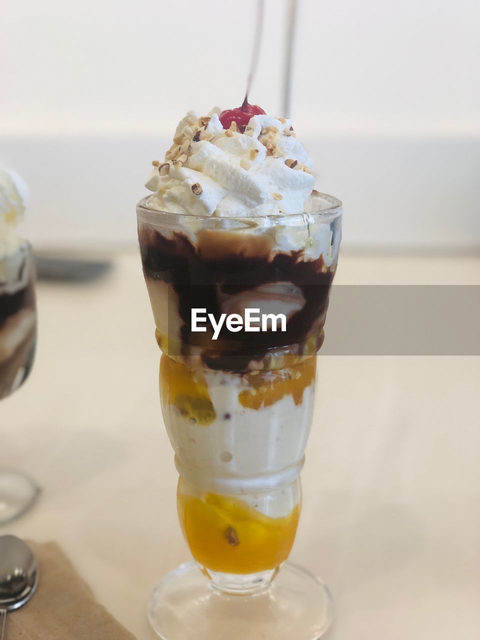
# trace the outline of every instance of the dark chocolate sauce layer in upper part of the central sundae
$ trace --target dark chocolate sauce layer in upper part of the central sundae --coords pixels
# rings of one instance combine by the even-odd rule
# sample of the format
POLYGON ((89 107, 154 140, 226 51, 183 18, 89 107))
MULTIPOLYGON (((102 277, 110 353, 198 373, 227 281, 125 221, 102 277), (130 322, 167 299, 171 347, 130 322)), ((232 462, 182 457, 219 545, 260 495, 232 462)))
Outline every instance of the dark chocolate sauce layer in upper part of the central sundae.
MULTIPOLYGON (((172 323, 174 314, 179 314, 183 323, 177 355, 186 355, 191 347, 201 347, 207 367, 245 371, 252 360, 265 360, 269 353, 287 346, 297 356, 305 351, 307 340, 310 349, 312 340, 314 350, 321 346, 335 262, 326 267, 322 256, 305 260, 301 251, 273 252, 264 235, 202 231, 196 245, 181 232, 164 237, 148 225, 140 225, 138 235, 145 278, 172 286, 178 296, 178 309, 172 310, 172 323), (212 329, 207 333, 191 331, 192 308, 205 308, 206 314, 213 314, 218 321, 221 312, 225 312, 225 298, 250 292, 255 300, 255 289, 262 285, 270 285, 271 298, 280 303, 287 299, 291 302, 292 289, 296 292, 293 302, 297 310, 288 317, 286 332, 242 329, 232 333, 224 324, 218 339, 212 340, 212 329)), ((282 307, 278 310, 277 305, 278 312, 282 307)))

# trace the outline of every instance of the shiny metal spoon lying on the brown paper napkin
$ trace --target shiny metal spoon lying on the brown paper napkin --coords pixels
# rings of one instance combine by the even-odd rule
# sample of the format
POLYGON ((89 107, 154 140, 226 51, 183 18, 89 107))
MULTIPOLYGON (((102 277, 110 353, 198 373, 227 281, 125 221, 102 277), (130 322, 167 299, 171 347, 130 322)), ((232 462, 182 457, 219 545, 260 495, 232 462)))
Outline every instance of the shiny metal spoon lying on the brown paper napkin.
POLYGON ((36 560, 28 545, 16 536, 0 536, 0 640, 3 640, 6 614, 26 604, 37 585, 36 560))

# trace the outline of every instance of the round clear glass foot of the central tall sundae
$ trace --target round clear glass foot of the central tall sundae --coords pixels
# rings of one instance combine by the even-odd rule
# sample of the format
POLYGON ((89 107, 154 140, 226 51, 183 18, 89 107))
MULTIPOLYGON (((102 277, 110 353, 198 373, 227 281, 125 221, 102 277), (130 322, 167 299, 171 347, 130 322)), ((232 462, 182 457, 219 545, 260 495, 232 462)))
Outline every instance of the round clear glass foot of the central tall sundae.
POLYGON ((266 591, 230 595, 186 563, 154 588, 148 620, 163 640, 317 640, 332 604, 326 586, 295 564, 285 563, 266 591))

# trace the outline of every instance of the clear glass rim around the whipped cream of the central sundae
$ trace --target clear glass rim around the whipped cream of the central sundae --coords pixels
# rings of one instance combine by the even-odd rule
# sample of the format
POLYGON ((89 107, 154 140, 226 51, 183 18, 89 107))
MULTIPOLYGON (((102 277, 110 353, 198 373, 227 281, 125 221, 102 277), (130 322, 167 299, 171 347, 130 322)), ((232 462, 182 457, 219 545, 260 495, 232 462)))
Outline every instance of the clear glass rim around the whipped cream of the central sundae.
MULTIPOLYGON (((289 220, 290 223, 294 223, 294 221, 303 221, 305 222, 305 216, 314 216, 314 218, 321 222, 330 222, 335 220, 341 216, 343 212, 343 205, 339 198, 335 198, 335 196, 328 195, 327 193, 321 193, 320 191, 312 191, 312 194, 308 196, 308 200, 323 200, 326 206, 323 206, 319 209, 311 208, 311 211, 303 211, 301 213, 287 214, 287 213, 275 213, 275 214, 263 214, 261 216, 245 216, 242 218, 236 218, 235 216, 198 216, 187 213, 173 213, 172 211, 161 211, 160 209, 153 209, 152 207, 148 207, 147 200, 150 196, 145 196, 138 202, 136 205, 137 216, 139 220, 148 222, 148 223, 163 223, 168 224, 168 221, 173 220, 189 220, 189 221, 197 221, 204 223, 205 221, 211 221, 212 225, 221 226, 222 223, 227 223, 227 221, 236 220, 237 222, 244 221, 245 223, 257 222, 260 223, 262 220, 268 220, 271 222, 289 220)), ((311 202, 313 204, 313 202, 311 202)))

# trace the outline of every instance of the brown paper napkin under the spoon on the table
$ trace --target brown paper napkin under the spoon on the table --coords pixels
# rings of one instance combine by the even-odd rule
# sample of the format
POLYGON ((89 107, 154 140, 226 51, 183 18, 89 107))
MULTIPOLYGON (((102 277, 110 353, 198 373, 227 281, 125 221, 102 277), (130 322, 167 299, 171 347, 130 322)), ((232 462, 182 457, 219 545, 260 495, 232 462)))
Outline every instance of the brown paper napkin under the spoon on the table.
POLYGON ((40 582, 30 602, 8 614, 5 640, 135 640, 96 602, 58 545, 28 545, 40 582))

